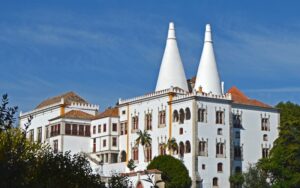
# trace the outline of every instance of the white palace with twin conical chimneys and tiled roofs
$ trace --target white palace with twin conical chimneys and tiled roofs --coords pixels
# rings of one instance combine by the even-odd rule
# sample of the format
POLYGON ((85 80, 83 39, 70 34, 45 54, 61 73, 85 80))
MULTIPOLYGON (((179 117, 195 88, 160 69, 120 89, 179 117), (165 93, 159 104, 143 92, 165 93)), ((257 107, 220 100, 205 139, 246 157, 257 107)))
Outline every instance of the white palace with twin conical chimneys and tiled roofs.
POLYGON ((135 171, 143 171, 155 156, 171 154, 187 167, 192 187, 204 188, 230 187, 230 175, 268 157, 280 119, 277 109, 238 88, 224 91, 210 25, 206 25, 197 76, 187 80, 173 23, 155 91, 119 99, 103 112, 68 92, 21 112, 20 125, 31 116, 30 140, 48 143, 54 152, 84 152, 94 169, 101 166, 103 176, 130 172, 130 159, 135 161, 135 171), (139 130, 147 130, 152 138, 145 149, 135 144, 139 130), (168 151, 171 138, 177 150, 168 151))

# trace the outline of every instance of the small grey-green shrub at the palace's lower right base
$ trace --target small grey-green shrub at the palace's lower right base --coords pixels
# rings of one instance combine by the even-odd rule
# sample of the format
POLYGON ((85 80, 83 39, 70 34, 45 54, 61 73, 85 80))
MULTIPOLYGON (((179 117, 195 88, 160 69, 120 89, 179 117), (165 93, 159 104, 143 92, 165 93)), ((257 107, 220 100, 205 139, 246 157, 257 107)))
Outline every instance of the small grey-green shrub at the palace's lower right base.
POLYGON ((243 188, 268 188, 267 174, 256 166, 250 165, 248 171, 243 174, 243 188))

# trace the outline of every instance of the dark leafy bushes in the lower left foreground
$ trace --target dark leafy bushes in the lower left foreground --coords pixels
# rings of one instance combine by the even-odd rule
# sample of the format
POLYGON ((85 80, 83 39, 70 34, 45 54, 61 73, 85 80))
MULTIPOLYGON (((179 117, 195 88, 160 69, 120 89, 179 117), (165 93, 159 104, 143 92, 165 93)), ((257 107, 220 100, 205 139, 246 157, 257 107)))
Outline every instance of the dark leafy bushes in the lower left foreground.
POLYGON ((26 139, 25 125, 14 127, 17 107, 0 105, 0 187, 101 187, 87 159, 69 152, 54 154, 50 147, 26 139))

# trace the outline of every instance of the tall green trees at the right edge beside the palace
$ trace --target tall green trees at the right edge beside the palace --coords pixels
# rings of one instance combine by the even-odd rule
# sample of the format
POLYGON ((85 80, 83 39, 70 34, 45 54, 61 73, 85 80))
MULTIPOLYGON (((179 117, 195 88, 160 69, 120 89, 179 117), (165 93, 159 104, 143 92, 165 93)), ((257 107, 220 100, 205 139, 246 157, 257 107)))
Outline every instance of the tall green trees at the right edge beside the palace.
POLYGON ((276 107, 281 114, 279 137, 258 168, 268 174, 272 187, 300 187, 300 106, 281 102, 276 107))

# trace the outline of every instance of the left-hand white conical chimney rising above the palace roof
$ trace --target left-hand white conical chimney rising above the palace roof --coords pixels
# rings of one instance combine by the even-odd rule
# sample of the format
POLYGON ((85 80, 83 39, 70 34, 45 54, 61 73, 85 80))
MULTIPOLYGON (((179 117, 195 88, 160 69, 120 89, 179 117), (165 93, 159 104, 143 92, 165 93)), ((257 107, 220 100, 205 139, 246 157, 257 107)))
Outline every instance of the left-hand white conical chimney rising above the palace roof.
POLYGON ((155 91, 179 87, 188 91, 187 80, 178 50, 174 23, 170 22, 166 48, 162 58, 155 91))

